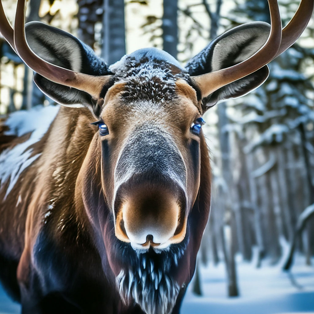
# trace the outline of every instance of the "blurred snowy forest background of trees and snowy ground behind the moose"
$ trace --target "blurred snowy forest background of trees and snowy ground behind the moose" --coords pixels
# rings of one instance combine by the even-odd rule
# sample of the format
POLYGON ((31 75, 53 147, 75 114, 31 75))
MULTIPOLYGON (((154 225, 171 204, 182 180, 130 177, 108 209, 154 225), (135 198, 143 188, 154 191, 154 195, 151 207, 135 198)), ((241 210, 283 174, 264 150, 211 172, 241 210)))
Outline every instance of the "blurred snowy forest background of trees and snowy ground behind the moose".
MULTIPOLYGON (((2 0, 8 19, 16 1, 2 0)), ((285 25, 299 0, 280 0, 285 25)), ((267 0, 30 0, 108 64, 155 46, 183 65, 212 39, 269 20, 267 0)), ((0 115, 54 105, 0 35, 0 115)), ((314 313, 314 18, 252 93, 207 111, 212 208, 182 313, 314 313)), ((0 288, 0 313, 19 313, 0 288)))

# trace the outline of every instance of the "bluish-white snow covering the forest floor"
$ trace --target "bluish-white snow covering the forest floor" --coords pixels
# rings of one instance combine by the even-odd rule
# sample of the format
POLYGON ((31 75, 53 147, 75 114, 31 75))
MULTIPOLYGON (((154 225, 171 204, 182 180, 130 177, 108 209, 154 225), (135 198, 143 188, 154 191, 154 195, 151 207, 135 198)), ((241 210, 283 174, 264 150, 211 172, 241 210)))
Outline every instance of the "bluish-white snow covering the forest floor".
MULTIPOLYGON (((237 257, 240 297, 226 297, 225 266, 201 268, 203 296, 192 293, 192 284, 183 301, 181 314, 314 314, 314 267, 296 256, 291 274, 281 271, 281 264, 269 261, 256 268, 255 261, 245 263, 237 257)), ((314 259, 312 260, 314 265, 314 259)), ((19 313, 0 287, 0 314, 19 313)))

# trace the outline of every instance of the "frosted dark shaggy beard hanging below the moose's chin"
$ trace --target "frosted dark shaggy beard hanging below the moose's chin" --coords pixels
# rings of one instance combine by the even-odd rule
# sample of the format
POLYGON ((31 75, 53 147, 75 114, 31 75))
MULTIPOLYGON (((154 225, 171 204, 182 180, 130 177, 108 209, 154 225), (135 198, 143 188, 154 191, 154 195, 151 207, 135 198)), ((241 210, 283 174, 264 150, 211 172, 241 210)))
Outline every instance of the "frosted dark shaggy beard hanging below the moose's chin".
POLYGON ((177 266, 183 250, 170 250, 167 253, 161 254, 163 256, 159 258, 137 254, 131 269, 120 271, 116 277, 116 286, 126 305, 134 301, 146 314, 171 313, 180 286, 170 275, 170 269, 171 266, 177 266))

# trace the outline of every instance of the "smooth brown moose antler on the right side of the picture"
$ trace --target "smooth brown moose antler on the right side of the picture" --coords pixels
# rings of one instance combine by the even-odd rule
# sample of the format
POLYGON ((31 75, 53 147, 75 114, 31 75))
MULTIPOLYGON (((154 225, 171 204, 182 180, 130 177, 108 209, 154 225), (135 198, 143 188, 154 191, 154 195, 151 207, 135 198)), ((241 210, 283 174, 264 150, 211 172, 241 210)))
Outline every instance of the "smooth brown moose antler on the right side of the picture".
POLYGON ((313 3, 314 0, 301 0, 295 15, 282 30, 277 0, 268 0, 271 30, 266 43, 253 56, 241 63, 192 77, 198 83, 202 97, 257 71, 294 44, 311 18, 313 3))

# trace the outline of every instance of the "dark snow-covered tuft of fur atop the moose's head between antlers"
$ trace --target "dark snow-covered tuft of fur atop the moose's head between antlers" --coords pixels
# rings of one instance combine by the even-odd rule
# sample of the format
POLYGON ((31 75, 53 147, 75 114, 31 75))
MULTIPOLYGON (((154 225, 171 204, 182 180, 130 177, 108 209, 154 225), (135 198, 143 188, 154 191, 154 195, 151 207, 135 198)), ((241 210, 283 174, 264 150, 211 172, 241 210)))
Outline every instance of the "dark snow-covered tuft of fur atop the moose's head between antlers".
POLYGON ((189 74, 167 52, 157 48, 137 50, 110 66, 115 80, 125 82, 125 100, 164 102, 176 98, 176 81, 189 82, 189 74))

